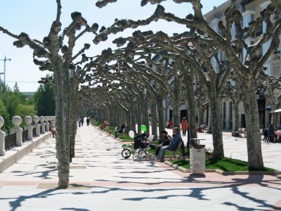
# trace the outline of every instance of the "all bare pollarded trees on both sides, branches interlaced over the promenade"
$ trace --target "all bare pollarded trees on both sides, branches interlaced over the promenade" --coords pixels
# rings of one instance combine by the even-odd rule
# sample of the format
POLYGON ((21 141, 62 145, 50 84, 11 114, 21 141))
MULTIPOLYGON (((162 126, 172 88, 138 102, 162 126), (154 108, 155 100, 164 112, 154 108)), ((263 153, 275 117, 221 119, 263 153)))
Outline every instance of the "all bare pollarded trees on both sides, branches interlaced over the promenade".
MULTIPOLYGON (((147 4, 148 1, 142 1, 142 5, 147 4)), ((266 32, 262 39, 250 46, 244 40, 249 37, 249 32, 255 30, 256 25, 251 25, 249 29, 242 28, 242 15, 236 8, 236 1, 232 1, 228 11, 226 11, 226 25, 219 25, 221 34, 215 32, 204 20, 201 12, 202 5, 199 0, 175 1, 176 3, 192 4, 194 14, 185 18, 178 18, 174 14, 166 13, 163 6, 158 5, 157 10, 150 18, 138 21, 116 19, 111 27, 102 27, 100 33, 97 33, 97 24, 90 27, 81 13, 78 12, 72 13, 72 23, 62 30, 60 0, 56 0, 56 2, 57 15, 51 25, 49 34, 44 37, 43 41, 30 39, 26 33, 13 34, 3 27, 0 27, 0 31, 13 37, 15 46, 29 46, 33 49, 34 63, 39 65, 40 70, 51 70, 53 72, 56 90, 58 131, 56 143, 58 184, 60 187, 68 186, 69 182, 70 160, 74 155, 74 136, 77 129, 75 123, 78 103, 77 93, 81 82, 89 82, 93 86, 94 84, 97 86, 101 84, 101 87, 94 88, 100 88, 101 91, 82 89, 81 93, 87 92, 87 96, 84 98, 89 98, 89 101, 86 102, 88 106, 93 105, 97 111, 103 111, 104 116, 110 114, 107 108, 115 109, 119 107, 119 112, 116 112, 116 122, 118 118, 123 118, 131 128, 136 121, 143 124, 148 123, 148 115, 145 115, 145 113, 146 106, 150 103, 152 134, 157 134, 157 123, 160 129, 164 127, 164 121, 161 120, 164 115, 160 115, 163 112, 163 99, 169 99, 174 109, 179 109, 178 103, 181 103, 183 94, 185 94, 186 105, 190 111, 188 118, 191 136, 196 136, 193 82, 194 75, 197 75, 200 78, 200 87, 202 87, 202 91, 208 97, 210 103, 214 153, 216 158, 222 158, 223 140, 218 110, 226 80, 230 75, 231 68, 233 68, 235 75, 239 77, 241 82, 242 91, 244 91, 247 134, 249 134, 247 136, 249 166, 258 169, 263 167, 255 84, 259 70, 263 68, 263 63, 277 49, 277 44, 279 44, 281 30, 279 1, 272 1, 266 11, 261 14, 262 20, 267 25, 266 32), (277 14, 274 23, 269 18, 273 12, 277 14), (112 33, 122 32, 126 28, 149 25, 152 21, 159 19, 174 21, 183 25, 183 28, 188 27, 190 30, 176 37, 169 37, 162 32, 156 35, 151 32, 136 32, 133 37, 121 37, 115 41, 119 46, 128 42, 124 49, 117 51, 107 49, 98 58, 88 57, 84 54, 84 51, 90 48, 89 44, 84 44, 84 47, 74 53, 77 40, 86 32, 92 33, 95 37, 93 43, 98 44, 100 41, 105 41, 112 33), (233 24, 238 34, 235 39, 230 34, 233 24), (262 58, 258 59, 262 44, 270 40, 272 40, 270 48, 262 58), (189 43, 192 43, 192 45, 190 46, 189 43), (247 55, 249 55, 247 63, 242 63, 240 59, 242 48, 246 49, 247 55), (218 49, 222 49, 226 53, 228 58, 226 66, 223 66, 216 56, 218 49), (155 63, 151 59, 150 53, 161 54, 163 63, 155 63), (211 58, 217 60, 220 65, 220 72, 216 72, 212 68, 211 58), (115 64, 112 65, 112 63, 115 64), (157 67, 157 71, 154 71, 152 67, 157 67), (98 101, 101 101, 101 103, 98 103, 98 101), (155 115, 156 110, 159 113, 159 120, 155 115), (127 115, 128 112, 129 115, 127 115)), ((98 1, 97 6, 105 6, 107 2, 114 1, 98 1)), ((161 0, 151 0, 150 2, 160 3, 161 0)), ((175 122, 179 122, 178 112, 174 113, 175 122), (178 117, 176 117, 177 114, 178 117)))

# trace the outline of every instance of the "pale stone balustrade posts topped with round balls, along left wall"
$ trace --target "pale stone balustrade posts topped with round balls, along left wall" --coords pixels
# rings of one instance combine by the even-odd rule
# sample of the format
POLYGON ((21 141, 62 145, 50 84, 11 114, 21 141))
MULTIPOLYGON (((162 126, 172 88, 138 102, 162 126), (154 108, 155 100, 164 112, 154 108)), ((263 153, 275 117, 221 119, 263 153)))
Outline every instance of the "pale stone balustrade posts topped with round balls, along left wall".
MULTIPOLYGON (((20 128, 20 124, 22 123, 22 118, 20 116, 15 116, 12 119, 14 127, 11 129, 11 134, 15 133, 15 145, 22 146, 22 131, 23 129, 20 128)), ((34 136, 40 136, 40 127, 41 127, 41 134, 45 134, 49 132, 50 124, 52 127, 55 127, 55 117, 38 117, 34 116, 33 118, 30 116, 25 117, 25 126, 24 130, 28 131, 27 139, 28 141, 32 141, 34 136), (32 125, 32 120, 34 124, 32 125), (38 123, 40 120, 40 123, 38 123), (33 128, 36 128, 36 134, 33 134, 33 128)), ((6 133, 1 131, 1 127, 4 125, 4 118, 0 116, 0 156, 6 155, 6 148, 5 148, 5 137, 6 133)), ((26 140, 26 139, 25 139, 26 140)))

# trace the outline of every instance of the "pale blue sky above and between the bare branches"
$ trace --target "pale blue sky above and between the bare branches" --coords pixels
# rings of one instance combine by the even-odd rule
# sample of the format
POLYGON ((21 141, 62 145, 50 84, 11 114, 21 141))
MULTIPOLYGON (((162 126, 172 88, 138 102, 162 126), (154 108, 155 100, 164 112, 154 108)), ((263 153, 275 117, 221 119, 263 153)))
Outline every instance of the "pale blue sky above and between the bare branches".
MULTIPOLYGON (((96 0, 62 0, 62 15, 61 22, 63 28, 71 23, 70 14, 73 11, 79 11, 83 17, 88 21, 89 25, 98 23, 98 25, 105 27, 112 25, 115 18, 129 18, 133 20, 148 18, 156 8, 156 5, 141 7, 141 0, 119 0, 115 4, 108 4, 104 8, 97 8, 95 6, 96 0)), ((211 11, 214 6, 218 6, 226 2, 226 0, 202 0, 203 13, 211 11)), ((192 13, 191 4, 175 4, 174 1, 164 1, 162 5, 167 12, 174 13, 181 18, 184 18, 188 13, 192 13)), ((8 0, 1 1, 0 7, 0 26, 6 28, 14 34, 26 32, 32 39, 43 40, 48 35, 51 23, 55 20, 56 15, 56 1, 55 0, 8 0)), ((182 25, 174 23, 167 23, 159 20, 148 27, 140 27, 139 30, 153 30, 164 31, 167 34, 173 32, 183 32, 186 30, 182 25)), ((76 44, 76 51, 79 51, 80 46, 84 43, 91 44, 91 49, 87 51, 88 56, 95 56, 103 49, 115 46, 112 40, 116 37, 130 36, 133 30, 126 30, 115 36, 110 36, 108 41, 94 45, 91 41, 93 34, 87 34, 82 37, 76 44)), ((6 62, 6 84, 13 88, 15 81, 18 82, 20 91, 36 91, 39 87, 37 81, 40 77, 44 77, 50 73, 48 71, 41 71, 34 65, 32 61, 32 51, 28 46, 22 49, 17 49, 13 46, 15 39, 8 37, 8 35, 0 32, 0 59, 11 58, 11 61, 6 62), (29 82, 29 83, 25 83, 29 82)), ((0 72, 4 72, 4 62, 0 61, 0 72)), ((4 76, 1 75, 1 79, 4 76)))

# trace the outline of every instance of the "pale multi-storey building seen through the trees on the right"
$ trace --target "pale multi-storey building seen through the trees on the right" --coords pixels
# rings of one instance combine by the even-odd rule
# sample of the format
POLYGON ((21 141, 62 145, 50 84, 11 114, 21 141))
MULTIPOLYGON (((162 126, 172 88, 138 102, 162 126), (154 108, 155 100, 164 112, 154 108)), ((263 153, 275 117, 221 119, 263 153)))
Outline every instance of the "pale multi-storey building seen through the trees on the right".
MULTIPOLYGON (((266 8, 270 4, 270 0, 237 0, 237 8, 240 9, 242 12, 242 25, 243 27, 248 27, 249 23, 253 20, 256 20, 260 16, 260 12, 266 8)), ((223 21, 223 23, 226 23, 225 18, 225 10, 230 5, 230 0, 226 1, 224 4, 221 4, 221 6, 214 7, 212 11, 209 11, 209 13, 204 15, 204 18, 208 21, 209 25, 216 30, 216 32, 219 32, 218 29, 218 22, 223 21)), ((272 15, 271 18, 275 18, 274 15, 272 15)), ((265 32, 266 25, 263 23, 255 33, 254 37, 249 37, 246 40, 246 43, 248 45, 254 44, 258 39, 260 39, 261 34, 265 32)), ((235 36, 235 29, 234 27, 231 30, 231 34, 233 37, 235 36)), ((281 38, 281 37, 280 37, 281 38)), ((268 47, 270 46, 270 41, 263 44, 263 49, 261 51, 261 56, 268 50, 268 47)), ((281 45, 279 46, 279 49, 273 54, 273 56, 270 56, 270 58, 266 61, 266 63, 263 65, 266 68, 266 74, 267 75, 273 75, 275 77, 279 77, 281 73, 281 59, 280 59, 280 49, 281 45)), ((242 60, 245 59, 246 51, 243 49, 242 52, 242 60)), ((226 60, 225 55, 223 51, 219 52, 219 57, 221 61, 226 60)), ((218 69, 216 67, 216 62, 214 60, 213 66, 215 69, 218 69)), ((275 98, 277 99, 277 96, 280 94, 280 91, 276 91, 275 98)), ((270 111, 271 107, 269 105, 269 101, 266 99, 265 94, 257 95, 256 96, 258 101, 258 107, 259 107, 259 119, 260 119, 260 127, 265 128, 270 124, 270 111)), ((224 98, 221 103, 221 125, 223 129, 232 129, 233 126, 233 115, 232 115, 232 101, 230 98, 224 98)), ((277 124, 280 125, 280 119, 281 115, 279 115, 277 124)), ((244 106, 243 103, 240 103, 239 106, 239 125, 240 127, 245 127, 245 120, 244 120, 244 106)))

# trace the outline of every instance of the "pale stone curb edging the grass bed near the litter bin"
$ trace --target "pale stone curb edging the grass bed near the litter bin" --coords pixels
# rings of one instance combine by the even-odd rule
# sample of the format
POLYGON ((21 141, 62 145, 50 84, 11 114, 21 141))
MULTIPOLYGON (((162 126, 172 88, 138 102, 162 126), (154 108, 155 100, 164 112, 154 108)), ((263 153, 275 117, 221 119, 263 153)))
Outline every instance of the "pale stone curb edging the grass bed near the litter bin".
MULTIPOLYGON (((168 160, 165 160, 164 163, 166 165, 169 165, 170 167, 174 168, 175 170, 180 170, 183 173, 190 173, 190 170, 185 169, 183 167, 180 167, 176 164, 173 164, 172 162, 169 162, 168 160)), ((216 172, 217 174, 221 174, 223 176, 228 175, 249 175, 249 174, 263 174, 263 175, 279 175, 281 174, 281 171, 275 171, 275 172, 264 172, 264 171, 237 171, 237 172, 225 172, 223 170, 205 170, 205 173, 208 172, 216 172)))

